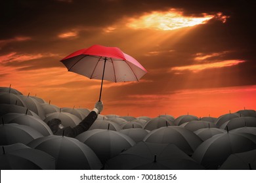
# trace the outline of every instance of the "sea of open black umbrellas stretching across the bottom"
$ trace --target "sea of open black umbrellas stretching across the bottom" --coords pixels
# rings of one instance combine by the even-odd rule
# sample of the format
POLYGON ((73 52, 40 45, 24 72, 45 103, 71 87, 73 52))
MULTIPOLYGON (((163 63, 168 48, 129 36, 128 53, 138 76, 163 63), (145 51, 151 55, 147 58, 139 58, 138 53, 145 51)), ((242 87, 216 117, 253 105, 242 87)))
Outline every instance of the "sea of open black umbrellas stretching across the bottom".
POLYGON ((56 136, 53 118, 74 127, 87 108, 60 108, 0 87, 1 169, 256 169, 256 112, 213 117, 98 115, 75 138, 56 136))

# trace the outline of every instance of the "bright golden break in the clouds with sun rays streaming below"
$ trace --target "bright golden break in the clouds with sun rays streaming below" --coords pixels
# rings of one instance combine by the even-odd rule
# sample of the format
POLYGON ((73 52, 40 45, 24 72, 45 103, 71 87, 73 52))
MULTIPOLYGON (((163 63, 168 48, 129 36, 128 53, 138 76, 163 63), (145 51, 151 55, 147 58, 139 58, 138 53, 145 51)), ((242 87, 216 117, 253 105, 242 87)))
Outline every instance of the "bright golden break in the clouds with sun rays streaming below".
POLYGON ((214 15, 202 14, 202 17, 184 16, 181 10, 170 9, 167 12, 152 12, 139 18, 132 18, 127 24, 133 29, 174 30, 182 27, 192 27, 205 24, 214 15))

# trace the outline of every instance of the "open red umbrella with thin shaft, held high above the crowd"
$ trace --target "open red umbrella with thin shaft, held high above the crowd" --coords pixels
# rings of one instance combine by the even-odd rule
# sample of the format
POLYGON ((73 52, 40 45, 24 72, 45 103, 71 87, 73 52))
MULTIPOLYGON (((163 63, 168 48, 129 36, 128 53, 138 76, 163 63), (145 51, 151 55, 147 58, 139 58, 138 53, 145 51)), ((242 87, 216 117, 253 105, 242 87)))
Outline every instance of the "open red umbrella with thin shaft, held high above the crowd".
POLYGON ((117 47, 93 45, 70 54, 61 62, 68 68, 68 71, 90 79, 102 80, 100 97, 103 80, 139 81, 147 73, 136 59, 123 53, 117 47))

